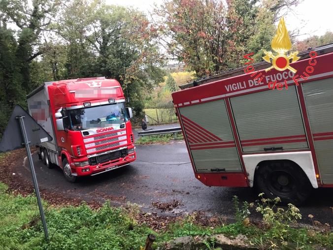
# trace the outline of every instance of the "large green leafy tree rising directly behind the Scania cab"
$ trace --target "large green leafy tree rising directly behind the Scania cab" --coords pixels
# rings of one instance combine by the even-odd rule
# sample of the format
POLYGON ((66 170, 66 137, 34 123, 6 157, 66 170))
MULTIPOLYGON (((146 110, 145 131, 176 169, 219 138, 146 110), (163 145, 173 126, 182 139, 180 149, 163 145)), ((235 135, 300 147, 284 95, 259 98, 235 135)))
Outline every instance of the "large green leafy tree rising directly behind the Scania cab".
POLYGON ((141 115, 143 92, 163 81, 165 74, 146 16, 100 0, 73 0, 61 13, 54 30, 66 42, 68 78, 117 79, 134 115, 141 115))

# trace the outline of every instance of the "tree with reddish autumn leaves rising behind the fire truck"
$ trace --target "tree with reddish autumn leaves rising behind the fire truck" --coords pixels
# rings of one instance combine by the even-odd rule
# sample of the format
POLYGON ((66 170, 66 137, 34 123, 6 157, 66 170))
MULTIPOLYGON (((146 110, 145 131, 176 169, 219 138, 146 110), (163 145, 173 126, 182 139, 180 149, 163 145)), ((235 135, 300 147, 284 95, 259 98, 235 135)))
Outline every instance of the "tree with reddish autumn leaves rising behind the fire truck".
POLYGON ((298 2, 166 0, 155 10, 156 32, 167 58, 203 76, 240 66, 249 49, 260 52, 270 46, 279 13, 298 2))

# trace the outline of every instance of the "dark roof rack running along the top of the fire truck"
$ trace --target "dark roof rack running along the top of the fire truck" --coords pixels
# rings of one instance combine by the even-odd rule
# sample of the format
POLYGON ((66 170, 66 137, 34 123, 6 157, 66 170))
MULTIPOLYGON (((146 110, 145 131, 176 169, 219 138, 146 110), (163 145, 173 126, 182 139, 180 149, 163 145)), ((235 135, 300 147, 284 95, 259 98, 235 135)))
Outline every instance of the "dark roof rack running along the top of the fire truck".
MULTIPOLYGON (((307 50, 301 51, 298 54, 298 56, 300 57, 300 60, 309 58, 309 52, 310 51, 316 51, 318 55, 324 55, 324 54, 331 53, 331 52, 333 52, 333 43, 318 46, 318 47, 315 47, 315 48, 308 48, 307 50)), ((254 63, 252 65, 255 68, 255 70, 258 71, 258 70, 263 70, 263 69, 268 68, 270 64, 265 62, 265 61, 262 61, 260 63, 254 63)), ((218 71, 218 72, 212 73, 210 75, 207 75, 205 77, 194 80, 192 82, 186 83, 184 85, 180 85, 179 88, 183 90, 183 89, 187 89, 187 88, 196 87, 196 86, 199 86, 201 84, 205 84, 205 83, 209 83, 209 82, 229 78, 229 77, 232 77, 232 76, 244 74, 244 69, 245 68, 246 68, 246 66, 241 67, 241 68, 237 68, 237 69, 233 69, 233 70, 229 70, 229 71, 218 71)))

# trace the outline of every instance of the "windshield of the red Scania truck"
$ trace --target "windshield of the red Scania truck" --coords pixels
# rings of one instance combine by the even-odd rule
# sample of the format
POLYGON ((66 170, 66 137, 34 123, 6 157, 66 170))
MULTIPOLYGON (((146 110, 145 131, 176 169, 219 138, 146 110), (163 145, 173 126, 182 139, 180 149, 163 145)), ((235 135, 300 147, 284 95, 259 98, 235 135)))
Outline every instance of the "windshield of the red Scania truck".
POLYGON ((72 130, 109 127, 128 121, 124 103, 68 111, 72 130))

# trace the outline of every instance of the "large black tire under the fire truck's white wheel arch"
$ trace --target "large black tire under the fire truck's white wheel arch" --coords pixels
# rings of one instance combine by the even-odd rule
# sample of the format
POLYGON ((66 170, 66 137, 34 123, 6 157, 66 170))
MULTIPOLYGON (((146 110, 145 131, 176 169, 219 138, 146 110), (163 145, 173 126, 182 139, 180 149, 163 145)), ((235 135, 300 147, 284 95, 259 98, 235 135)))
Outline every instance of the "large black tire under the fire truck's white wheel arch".
POLYGON ((280 197, 282 205, 303 203, 312 191, 312 186, 300 167, 291 161, 268 161, 255 174, 257 192, 267 198, 280 197))

